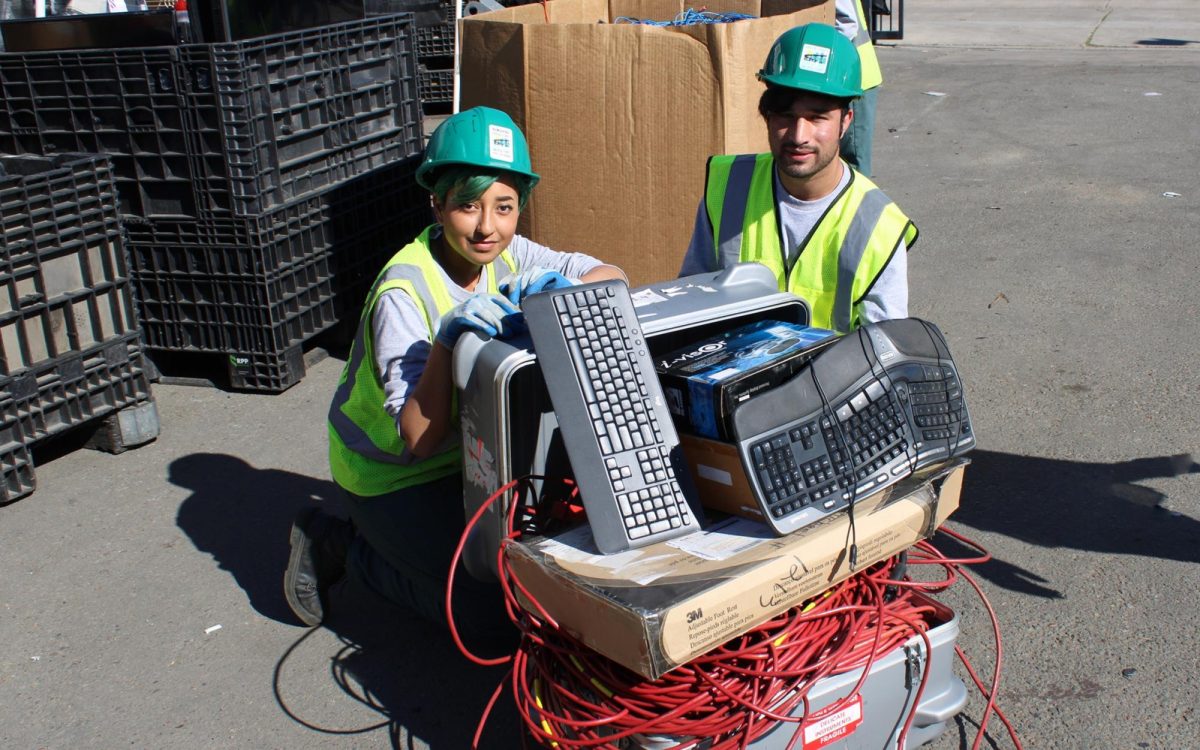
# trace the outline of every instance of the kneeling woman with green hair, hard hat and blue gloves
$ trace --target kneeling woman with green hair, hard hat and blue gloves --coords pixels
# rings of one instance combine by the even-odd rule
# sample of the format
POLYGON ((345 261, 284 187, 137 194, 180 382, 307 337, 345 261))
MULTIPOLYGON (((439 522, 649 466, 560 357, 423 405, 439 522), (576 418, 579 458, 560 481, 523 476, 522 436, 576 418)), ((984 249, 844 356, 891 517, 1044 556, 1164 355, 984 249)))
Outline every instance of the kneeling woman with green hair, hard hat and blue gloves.
MULTIPOLYGON (((305 624, 325 618, 329 588, 343 576, 446 622, 464 527, 455 342, 472 331, 516 332, 528 294, 625 277, 516 234, 538 179, 524 136, 503 112, 468 109, 433 132, 416 180, 437 223, 376 278, 329 409, 330 470, 350 520, 307 508, 292 526, 284 595, 305 624)), ((458 576, 455 613, 479 632, 502 623, 499 586, 458 576)))

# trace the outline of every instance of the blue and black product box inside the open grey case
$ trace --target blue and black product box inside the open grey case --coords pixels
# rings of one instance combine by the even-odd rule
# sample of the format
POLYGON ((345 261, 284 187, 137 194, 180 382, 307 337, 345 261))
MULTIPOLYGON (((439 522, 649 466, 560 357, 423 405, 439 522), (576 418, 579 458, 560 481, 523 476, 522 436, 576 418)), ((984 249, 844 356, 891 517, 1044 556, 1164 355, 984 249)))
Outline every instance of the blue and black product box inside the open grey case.
POLYGON ((655 370, 680 431, 732 440, 733 408, 794 376, 835 337, 823 328, 760 320, 660 356, 655 370))

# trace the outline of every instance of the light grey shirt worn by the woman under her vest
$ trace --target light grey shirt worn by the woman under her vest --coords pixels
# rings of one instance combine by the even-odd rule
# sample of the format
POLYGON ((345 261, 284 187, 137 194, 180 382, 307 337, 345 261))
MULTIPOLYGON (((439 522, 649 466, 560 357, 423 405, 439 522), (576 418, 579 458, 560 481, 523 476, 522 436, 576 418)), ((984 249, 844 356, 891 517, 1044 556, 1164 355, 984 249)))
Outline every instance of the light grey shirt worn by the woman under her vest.
MULTIPOLYGON (((431 239, 436 236, 440 236, 438 229, 431 233, 431 239)), ((509 244, 509 254, 516 262, 517 269, 541 266, 558 271, 568 278, 578 278, 602 265, 590 256, 558 252, 527 240, 520 234, 509 244)), ((503 265, 500 262, 500 266, 503 265)), ((438 271, 455 304, 464 302, 474 294, 451 281, 442 266, 438 266, 438 271)), ((482 268, 481 274, 476 288, 486 289, 487 266, 482 268)), ((371 324, 374 334, 376 370, 380 373, 385 394, 384 408, 392 419, 398 419, 404 400, 425 371, 425 361, 430 356, 433 341, 425 325, 425 316, 421 314, 416 302, 400 289, 386 292, 379 298, 371 324)))

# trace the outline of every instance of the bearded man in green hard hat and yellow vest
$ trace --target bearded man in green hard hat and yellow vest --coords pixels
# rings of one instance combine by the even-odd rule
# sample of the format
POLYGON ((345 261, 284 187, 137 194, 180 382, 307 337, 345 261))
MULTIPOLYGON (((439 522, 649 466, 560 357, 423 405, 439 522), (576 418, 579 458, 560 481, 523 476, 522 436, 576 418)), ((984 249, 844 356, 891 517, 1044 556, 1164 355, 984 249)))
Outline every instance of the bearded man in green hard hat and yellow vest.
POLYGON ((836 29, 785 31, 758 71, 768 154, 714 156, 680 276, 767 265, 840 332, 908 317, 908 217, 840 158, 862 95, 858 52, 836 29))

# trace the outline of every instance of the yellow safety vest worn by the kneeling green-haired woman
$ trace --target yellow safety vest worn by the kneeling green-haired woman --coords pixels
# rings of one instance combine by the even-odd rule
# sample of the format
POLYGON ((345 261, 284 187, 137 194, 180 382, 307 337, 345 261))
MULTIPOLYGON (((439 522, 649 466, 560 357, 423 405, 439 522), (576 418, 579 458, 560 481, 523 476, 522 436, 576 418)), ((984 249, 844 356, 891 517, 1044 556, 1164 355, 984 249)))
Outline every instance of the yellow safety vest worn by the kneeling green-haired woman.
MULTIPOLYGON (((460 445, 420 461, 402 457, 404 440, 396 428, 396 420, 384 409, 385 394, 374 361, 371 322, 374 306, 384 293, 401 289, 416 302, 430 329, 430 341, 433 341, 433 326, 438 318, 455 306, 430 248, 433 228, 427 227, 392 256, 376 278, 359 319, 349 360, 329 407, 330 472, 338 486, 361 497, 385 494, 462 470, 460 445)), ((508 251, 502 252, 487 269, 486 290, 498 293, 499 280, 516 271, 512 257, 508 251), (499 266, 499 260, 504 262, 506 270, 499 266)), ((457 412, 457 404, 454 409, 457 412)))

